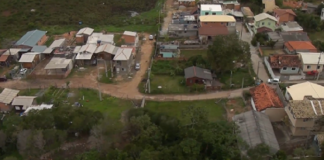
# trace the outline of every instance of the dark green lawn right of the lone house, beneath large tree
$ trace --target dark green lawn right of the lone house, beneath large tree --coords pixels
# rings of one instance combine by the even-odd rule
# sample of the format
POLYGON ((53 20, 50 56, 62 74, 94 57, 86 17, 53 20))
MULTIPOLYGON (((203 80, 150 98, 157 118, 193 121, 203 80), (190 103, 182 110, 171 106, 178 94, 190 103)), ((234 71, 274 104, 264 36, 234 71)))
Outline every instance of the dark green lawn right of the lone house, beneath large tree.
MULTIPOLYGON (((253 72, 253 70, 251 70, 253 72)), ((253 73, 251 73, 253 74, 253 73)), ((220 77, 221 83, 224 84, 223 89, 229 89, 229 88, 241 88, 242 82, 244 78, 244 85, 243 87, 248 87, 254 85, 253 77, 250 75, 249 70, 246 68, 239 68, 232 72, 232 84, 234 86, 230 87, 230 81, 231 81, 231 72, 226 72, 222 75, 218 75, 220 77)))

